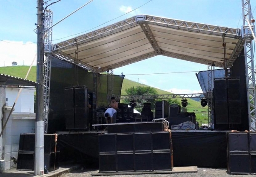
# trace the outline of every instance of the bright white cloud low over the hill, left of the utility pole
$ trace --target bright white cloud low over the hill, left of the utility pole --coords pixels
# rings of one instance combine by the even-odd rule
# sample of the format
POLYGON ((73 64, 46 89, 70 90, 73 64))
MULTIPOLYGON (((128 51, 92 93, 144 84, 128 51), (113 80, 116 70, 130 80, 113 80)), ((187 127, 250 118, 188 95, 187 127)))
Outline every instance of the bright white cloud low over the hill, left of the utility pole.
MULTIPOLYGON (((5 41, 0 41, 0 67, 12 66, 12 62, 17 62, 18 66, 31 65, 36 55, 36 44, 23 41, 5 41)), ((36 65, 36 59, 33 65, 36 65)))

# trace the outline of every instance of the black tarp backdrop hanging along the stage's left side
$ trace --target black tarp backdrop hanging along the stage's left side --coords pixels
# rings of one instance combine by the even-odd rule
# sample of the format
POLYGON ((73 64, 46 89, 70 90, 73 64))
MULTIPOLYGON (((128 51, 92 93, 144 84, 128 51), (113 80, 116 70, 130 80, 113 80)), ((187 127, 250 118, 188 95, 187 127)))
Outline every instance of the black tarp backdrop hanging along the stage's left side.
MULTIPOLYGON (((124 76, 114 75, 113 94, 120 95, 124 76)), ((107 75, 98 75, 98 106, 107 106, 107 75)), ((93 73, 81 67, 60 60, 56 57, 51 61, 50 104, 48 115, 48 133, 65 130, 64 89, 74 85, 85 85, 88 92, 93 92, 93 73)))

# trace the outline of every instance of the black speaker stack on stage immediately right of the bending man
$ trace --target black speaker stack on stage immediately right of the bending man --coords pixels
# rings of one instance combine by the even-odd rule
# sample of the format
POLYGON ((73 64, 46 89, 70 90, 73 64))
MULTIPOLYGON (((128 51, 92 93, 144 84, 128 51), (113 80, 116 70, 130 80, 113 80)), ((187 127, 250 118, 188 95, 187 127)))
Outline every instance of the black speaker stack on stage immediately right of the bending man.
POLYGON ((133 107, 128 107, 128 104, 118 103, 116 122, 134 122, 133 107))

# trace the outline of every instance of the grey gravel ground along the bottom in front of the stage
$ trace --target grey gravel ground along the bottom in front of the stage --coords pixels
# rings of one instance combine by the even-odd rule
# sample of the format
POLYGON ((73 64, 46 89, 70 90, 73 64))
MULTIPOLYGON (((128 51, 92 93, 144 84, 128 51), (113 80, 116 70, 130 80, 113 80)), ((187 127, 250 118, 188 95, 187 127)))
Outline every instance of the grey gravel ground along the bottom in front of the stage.
MULTIPOLYGON (((91 173, 97 173, 98 170, 75 170, 62 177, 91 177, 91 173)), ((226 169, 198 168, 197 173, 173 173, 173 174, 147 174, 147 175, 118 175, 116 177, 256 177, 256 175, 228 175, 226 169)), ((115 177, 115 176, 98 176, 115 177)))

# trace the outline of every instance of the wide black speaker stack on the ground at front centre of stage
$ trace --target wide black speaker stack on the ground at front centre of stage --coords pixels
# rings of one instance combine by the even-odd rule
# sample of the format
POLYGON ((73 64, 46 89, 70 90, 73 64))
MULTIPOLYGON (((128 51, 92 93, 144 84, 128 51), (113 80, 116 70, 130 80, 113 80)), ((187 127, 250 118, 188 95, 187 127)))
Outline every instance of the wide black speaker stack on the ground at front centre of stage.
MULTIPOLYGON (((145 123, 147 124, 147 123, 145 123)), ((161 123, 162 124, 162 123, 161 123)), ((155 124, 156 125, 156 124, 155 124)), ((171 132, 108 133, 99 135, 100 172, 171 171, 171 132)))

